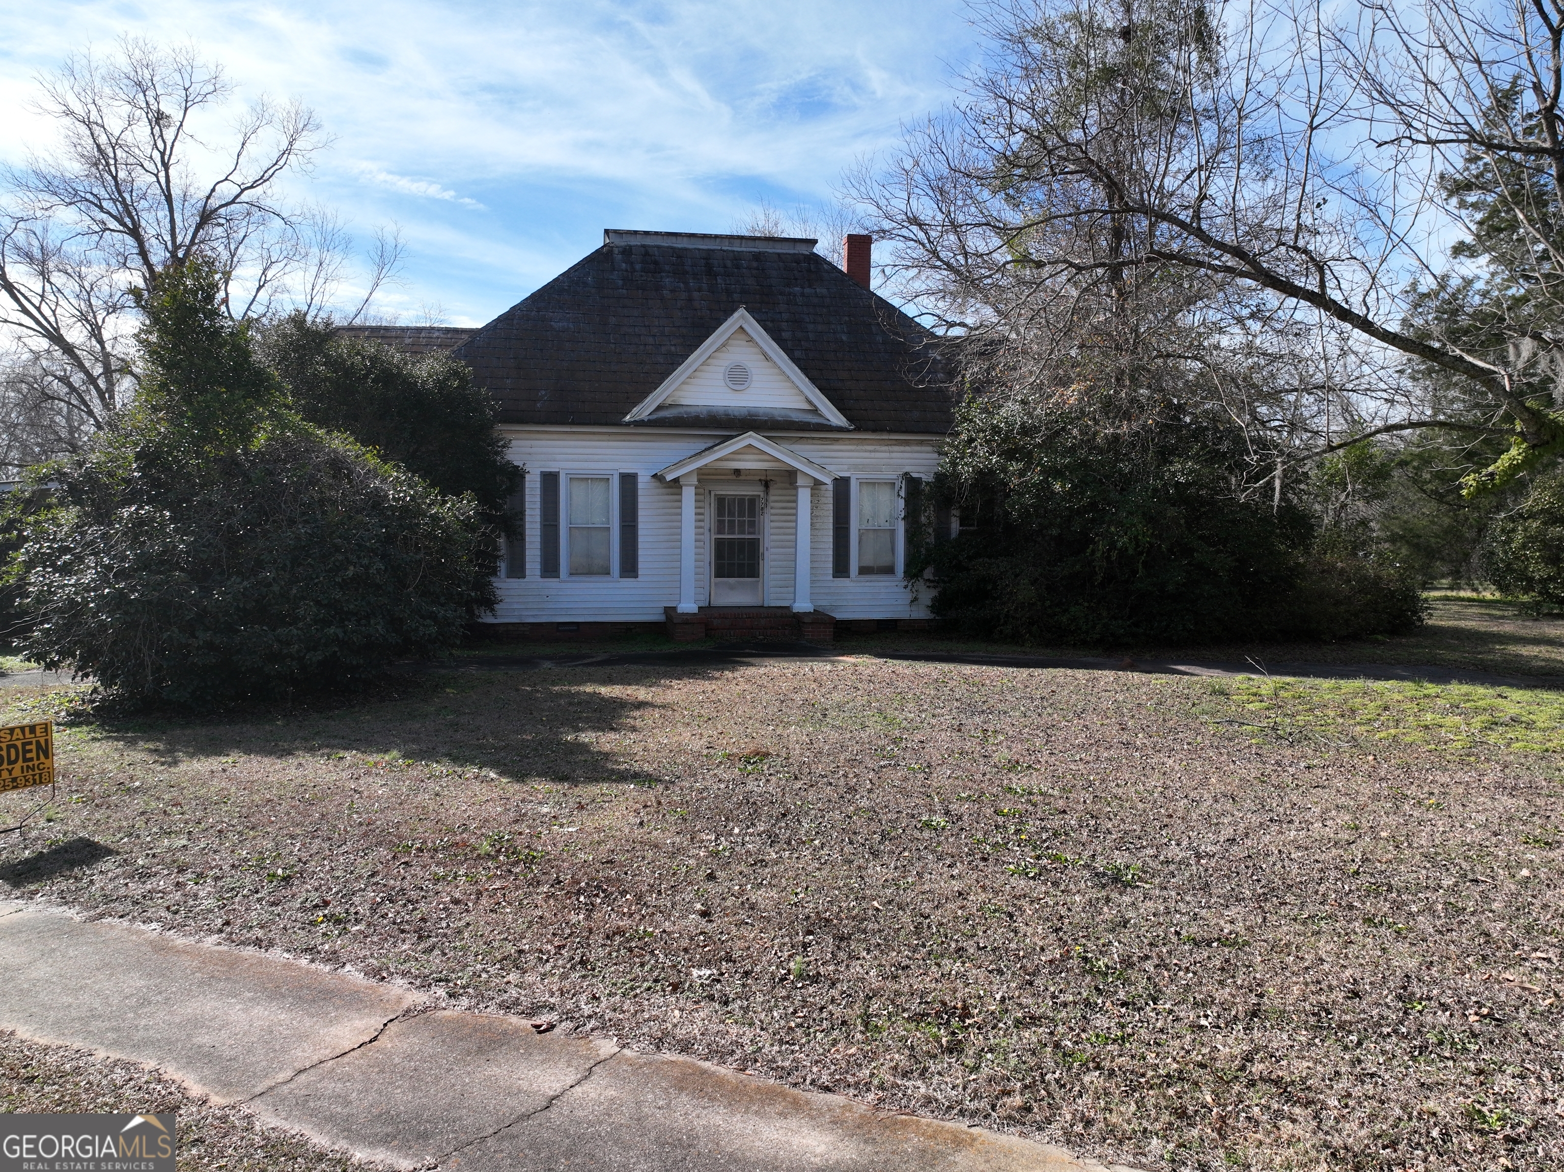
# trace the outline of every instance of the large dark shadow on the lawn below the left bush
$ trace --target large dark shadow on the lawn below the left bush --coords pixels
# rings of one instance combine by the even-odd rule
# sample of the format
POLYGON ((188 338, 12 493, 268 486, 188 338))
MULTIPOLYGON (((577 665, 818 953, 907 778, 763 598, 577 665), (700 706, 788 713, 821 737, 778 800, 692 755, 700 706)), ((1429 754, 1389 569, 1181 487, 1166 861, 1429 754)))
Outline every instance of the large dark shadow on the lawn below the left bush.
POLYGON ((353 757, 491 770, 500 779, 566 784, 657 781, 624 765, 605 740, 637 728, 668 679, 721 674, 726 665, 629 663, 549 671, 469 668, 408 678, 396 695, 316 707, 217 717, 100 717, 92 737, 150 754, 153 768, 250 754, 291 760, 353 757))

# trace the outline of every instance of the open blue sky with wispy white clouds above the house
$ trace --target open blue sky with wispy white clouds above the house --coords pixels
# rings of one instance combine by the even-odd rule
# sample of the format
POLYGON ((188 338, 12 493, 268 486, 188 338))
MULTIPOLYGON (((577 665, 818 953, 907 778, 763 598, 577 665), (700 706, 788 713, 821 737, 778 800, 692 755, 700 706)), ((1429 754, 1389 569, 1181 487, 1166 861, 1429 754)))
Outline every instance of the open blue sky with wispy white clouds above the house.
POLYGON ((0 158, 45 141, 17 111, 70 52, 194 42, 241 95, 319 114, 335 144, 296 194, 361 236, 399 224, 383 307, 452 324, 490 319, 605 227, 729 232, 762 199, 829 205, 978 52, 960 0, 0 0, 0 158))

